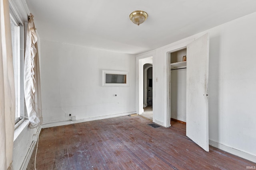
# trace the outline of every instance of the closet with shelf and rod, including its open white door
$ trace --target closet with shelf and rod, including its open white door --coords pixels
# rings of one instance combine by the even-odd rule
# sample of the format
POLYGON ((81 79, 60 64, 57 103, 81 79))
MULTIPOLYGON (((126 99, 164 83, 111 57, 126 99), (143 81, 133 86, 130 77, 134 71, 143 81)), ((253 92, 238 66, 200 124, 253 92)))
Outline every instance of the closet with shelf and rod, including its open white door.
MULTIPOLYGON (((186 136, 209 151, 209 33, 168 52, 168 115, 186 122, 186 136), (183 56, 186 55, 186 61, 183 56)), ((170 123, 171 125, 171 123, 170 123)))

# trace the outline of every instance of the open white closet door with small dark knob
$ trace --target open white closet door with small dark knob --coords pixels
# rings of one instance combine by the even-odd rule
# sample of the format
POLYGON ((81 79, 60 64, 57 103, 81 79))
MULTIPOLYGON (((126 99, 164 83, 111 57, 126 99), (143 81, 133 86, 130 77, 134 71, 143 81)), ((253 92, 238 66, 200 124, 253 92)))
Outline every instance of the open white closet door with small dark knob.
POLYGON ((209 151, 209 33, 187 46, 186 135, 209 151))

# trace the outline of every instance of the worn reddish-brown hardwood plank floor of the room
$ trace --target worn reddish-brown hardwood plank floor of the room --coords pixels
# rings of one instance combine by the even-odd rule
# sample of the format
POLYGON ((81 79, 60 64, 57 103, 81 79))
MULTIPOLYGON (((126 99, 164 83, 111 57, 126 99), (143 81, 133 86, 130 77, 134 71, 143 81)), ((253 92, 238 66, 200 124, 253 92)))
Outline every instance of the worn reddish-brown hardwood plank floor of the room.
MULTIPOLYGON (((42 129, 37 170, 245 170, 243 158, 186 137, 186 125, 154 128, 140 116, 123 116, 42 129)), ((36 148, 35 148, 36 150, 36 148)), ((27 170, 34 170, 35 150, 27 170)))

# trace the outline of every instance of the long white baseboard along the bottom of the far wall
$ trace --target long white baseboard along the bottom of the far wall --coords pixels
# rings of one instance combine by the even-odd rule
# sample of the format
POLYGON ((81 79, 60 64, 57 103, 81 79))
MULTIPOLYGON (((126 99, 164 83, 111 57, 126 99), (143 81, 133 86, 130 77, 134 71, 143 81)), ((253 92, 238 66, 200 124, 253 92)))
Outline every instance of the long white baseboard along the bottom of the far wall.
POLYGON ((112 118, 112 117, 127 116, 127 115, 130 115, 130 114, 133 114, 133 113, 136 113, 136 112, 134 111, 134 112, 127 112, 127 113, 118 113, 118 114, 114 114, 114 115, 90 117, 90 118, 85 118, 85 119, 77 119, 75 121, 68 120, 68 121, 49 122, 49 123, 44 123, 42 125, 42 128, 56 127, 56 126, 63 126, 63 125, 71 125, 71 124, 74 124, 74 123, 82 123, 82 122, 86 122, 86 121, 108 119, 108 118, 112 118))

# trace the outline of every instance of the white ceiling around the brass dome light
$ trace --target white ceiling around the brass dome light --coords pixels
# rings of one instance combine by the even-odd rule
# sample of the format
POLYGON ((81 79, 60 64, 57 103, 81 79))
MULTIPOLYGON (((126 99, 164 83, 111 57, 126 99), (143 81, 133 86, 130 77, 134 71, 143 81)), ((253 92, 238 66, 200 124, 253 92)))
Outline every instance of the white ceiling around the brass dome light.
MULTIPOLYGON (((41 39, 138 54, 256 12, 256 0, 26 0, 41 39), (148 19, 130 21, 134 10, 148 19)), ((246 26, 246 25, 245 25, 246 26)))

